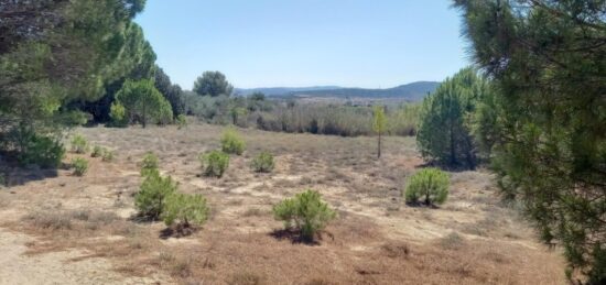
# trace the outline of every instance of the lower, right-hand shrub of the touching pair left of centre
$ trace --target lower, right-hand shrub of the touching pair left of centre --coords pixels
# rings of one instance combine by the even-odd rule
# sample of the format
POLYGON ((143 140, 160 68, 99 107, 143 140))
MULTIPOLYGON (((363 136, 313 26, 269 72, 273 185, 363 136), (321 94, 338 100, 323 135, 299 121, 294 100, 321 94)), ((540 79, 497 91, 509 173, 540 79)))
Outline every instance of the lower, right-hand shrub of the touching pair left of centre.
POLYGON ((175 193, 166 198, 162 219, 169 227, 175 222, 180 228, 199 227, 208 219, 206 198, 175 193))

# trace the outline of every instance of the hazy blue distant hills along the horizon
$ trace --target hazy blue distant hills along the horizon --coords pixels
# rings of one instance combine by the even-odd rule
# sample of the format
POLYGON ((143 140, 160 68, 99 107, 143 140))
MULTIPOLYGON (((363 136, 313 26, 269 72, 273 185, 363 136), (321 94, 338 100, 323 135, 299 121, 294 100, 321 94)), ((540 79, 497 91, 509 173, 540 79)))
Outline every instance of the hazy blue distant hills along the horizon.
POLYGON ((260 91, 273 97, 337 97, 337 98, 402 98, 410 101, 422 100, 428 92, 433 92, 440 83, 415 81, 387 89, 343 88, 337 86, 317 86, 302 88, 255 88, 236 89, 236 94, 248 96, 260 91))

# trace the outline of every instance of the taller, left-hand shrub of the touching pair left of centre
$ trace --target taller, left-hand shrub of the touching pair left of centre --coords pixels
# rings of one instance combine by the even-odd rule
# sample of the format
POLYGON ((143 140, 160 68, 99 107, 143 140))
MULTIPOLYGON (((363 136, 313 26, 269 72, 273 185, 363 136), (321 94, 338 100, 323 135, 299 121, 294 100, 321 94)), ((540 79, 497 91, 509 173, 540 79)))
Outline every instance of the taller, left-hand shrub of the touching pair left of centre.
POLYGON ((141 217, 158 220, 164 210, 166 199, 176 191, 177 184, 171 176, 162 177, 150 172, 134 195, 134 207, 141 217))

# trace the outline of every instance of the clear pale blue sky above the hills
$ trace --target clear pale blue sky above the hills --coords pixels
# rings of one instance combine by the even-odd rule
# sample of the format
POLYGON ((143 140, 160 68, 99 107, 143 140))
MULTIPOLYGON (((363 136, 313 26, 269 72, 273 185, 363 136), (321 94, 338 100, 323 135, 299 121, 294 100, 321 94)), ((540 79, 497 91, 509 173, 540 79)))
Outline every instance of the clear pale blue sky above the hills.
POLYGON ((173 83, 389 88, 467 63, 450 0, 148 0, 137 22, 173 83))

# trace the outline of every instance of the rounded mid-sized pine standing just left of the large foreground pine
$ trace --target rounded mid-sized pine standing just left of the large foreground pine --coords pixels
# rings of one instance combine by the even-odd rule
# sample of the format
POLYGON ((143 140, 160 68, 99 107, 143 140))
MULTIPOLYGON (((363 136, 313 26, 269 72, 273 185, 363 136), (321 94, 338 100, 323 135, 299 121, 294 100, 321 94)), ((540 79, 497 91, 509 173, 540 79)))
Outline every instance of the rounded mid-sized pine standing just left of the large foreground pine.
POLYGON ((416 144, 424 158, 442 165, 476 167, 477 144, 470 118, 487 94, 487 83, 468 67, 444 80, 423 100, 416 144))

